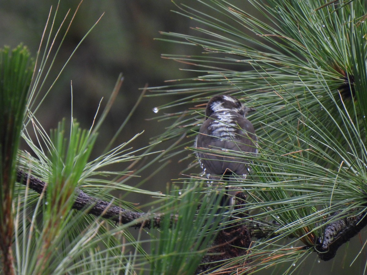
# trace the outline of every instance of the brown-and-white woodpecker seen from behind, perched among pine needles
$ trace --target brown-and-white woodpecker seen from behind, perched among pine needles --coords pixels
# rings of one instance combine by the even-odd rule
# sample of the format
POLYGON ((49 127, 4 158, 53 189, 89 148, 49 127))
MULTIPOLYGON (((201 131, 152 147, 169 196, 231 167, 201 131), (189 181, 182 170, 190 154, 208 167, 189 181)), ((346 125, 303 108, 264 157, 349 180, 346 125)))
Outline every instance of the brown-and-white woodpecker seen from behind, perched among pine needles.
MULTIPOLYGON (((250 161, 240 157, 239 152, 257 153, 255 129, 246 118, 251 110, 230 95, 217 95, 209 100, 205 112, 206 119, 200 126, 195 147, 199 150, 208 149, 206 152, 197 151, 196 156, 204 175, 211 183, 221 178, 245 179, 250 172, 250 161), (220 154, 218 150, 224 151, 225 154, 220 154)), ((234 195, 240 190, 230 187, 226 187, 226 190, 232 191, 227 191, 228 198, 224 198, 224 201, 229 199, 226 203, 233 205, 234 195)), ((222 206, 224 204, 223 202, 222 206)))

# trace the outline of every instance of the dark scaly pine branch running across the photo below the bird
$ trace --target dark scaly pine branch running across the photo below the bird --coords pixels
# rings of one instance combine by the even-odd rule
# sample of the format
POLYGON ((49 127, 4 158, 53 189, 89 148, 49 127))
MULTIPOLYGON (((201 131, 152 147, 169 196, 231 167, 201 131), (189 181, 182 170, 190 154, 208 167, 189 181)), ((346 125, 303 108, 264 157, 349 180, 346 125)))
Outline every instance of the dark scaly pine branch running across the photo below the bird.
MULTIPOLYGON (((47 187, 46 182, 29 175, 29 173, 26 173, 21 169, 17 171, 17 181, 28 186, 39 194, 41 194, 44 188, 47 187)), ((244 199, 241 198, 241 193, 237 194, 237 196, 237 199, 244 199)), ((81 190, 78 190, 72 208, 76 210, 88 209, 88 214, 110 219, 116 221, 117 223, 131 223, 131 227, 135 228, 159 228, 163 216, 163 214, 157 213, 149 214, 126 210, 119 206, 112 205, 110 202, 91 197, 81 190)), ((319 238, 318 244, 316 246, 316 251, 319 254, 320 259, 327 261, 334 258, 338 248, 343 243, 348 242, 367 225, 367 218, 365 218, 365 215, 366 213, 362 213, 356 217, 349 217, 328 224, 325 228, 323 239, 321 240, 321 238, 319 238)), ((177 216, 171 215, 172 224, 175 223, 176 220, 177 216)), ((282 232, 278 232, 277 234, 274 233, 274 226, 277 225, 274 223, 266 224, 249 220, 245 225, 251 237, 258 239, 282 234, 282 232)), ((288 237, 292 238, 295 236, 288 237)))

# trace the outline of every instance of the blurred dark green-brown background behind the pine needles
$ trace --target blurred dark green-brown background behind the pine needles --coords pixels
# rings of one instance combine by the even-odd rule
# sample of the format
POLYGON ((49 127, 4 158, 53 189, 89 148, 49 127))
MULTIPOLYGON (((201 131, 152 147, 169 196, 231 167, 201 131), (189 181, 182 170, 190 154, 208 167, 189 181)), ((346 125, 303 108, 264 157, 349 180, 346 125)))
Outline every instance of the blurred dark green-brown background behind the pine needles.
MULTIPOLYGON (((182 0, 179 3, 189 3, 194 8, 200 6, 197 1, 182 0)), ((246 9, 246 1, 232 1, 232 3, 242 5, 246 9)), ((63 16, 70 8, 70 14, 65 26, 63 26, 65 31, 78 4, 79 1, 62 0, 58 11, 58 22, 55 25, 58 26, 61 23, 63 16)), ((3 45, 15 47, 22 42, 29 47, 30 52, 35 57, 51 6, 54 10, 57 7, 57 1, 0 0, 0 47, 3 45)), ((141 94, 141 89, 146 84, 149 87, 155 87, 165 85, 164 81, 166 80, 195 77, 195 72, 181 70, 188 69, 187 65, 162 59, 160 55, 193 55, 201 52, 200 47, 188 47, 182 44, 154 40, 154 38, 161 37, 159 31, 186 34, 194 32, 190 27, 197 26, 195 22, 175 14, 171 10, 177 11, 179 9, 170 0, 84 0, 65 37, 43 92, 46 92, 50 87, 62 65, 86 32, 103 13, 104 15, 76 51, 52 88, 46 102, 38 111, 36 116, 44 128, 55 128, 57 122, 63 117, 70 117, 70 81, 73 84, 73 115, 84 128, 89 128, 99 101, 103 97, 102 106, 105 106, 117 77, 122 72, 124 75, 123 86, 102 131, 100 131, 97 140, 99 148, 97 147, 94 152, 94 156, 97 156, 124 121, 141 94)), ((162 133, 164 128, 172 123, 171 121, 148 121, 147 119, 160 114, 155 114, 152 109, 174 99, 177 98, 173 96, 144 98, 115 145, 127 141, 136 133, 144 130, 143 135, 135 140, 132 146, 134 148, 146 146, 152 137, 162 133)), ((169 111, 178 110, 169 109, 169 111)), ((164 149, 169 144, 169 142, 161 144, 157 150, 164 149)), ((180 177, 180 171, 189 164, 189 161, 179 162, 181 157, 182 155, 173 158, 168 169, 166 168, 163 172, 155 175, 141 188, 164 192, 166 184, 171 179, 180 177)), ((141 178, 149 176, 159 165, 157 163, 156 166, 144 171, 141 178)), ((115 167, 115 169, 121 168, 115 167)), ((192 172, 199 172, 199 169, 192 172)), ((130 184, 134 186, 139 181, 139 178, 135 178, 130 181, 130 184)), ((150 198, 129 195, 128 200, 133 203, 145 203, 150 198)), ((360 247, 363 243, 362 240, 364 240, 363 236, 362 239, 356 237, 344 246, 349 247, 349 249, 352 249, 353 246, 360 247)), ((335 261, 327 263, 315 260, 317 255, 314 253, 307 261, 306 266, 309 268, 303 271, 300 269, 298 274, 309 274, 310 270, 313 270, 312 274, 346 274, 346 272, 361 274, 363 261, 361 265, 353 265, 353 271, 351 271, 348 265, 355 254, 349 253, 348 255, 346 252, 345 249, 338 250, 335 261), (345 269, 341 268, 340 263, 345 269)))

